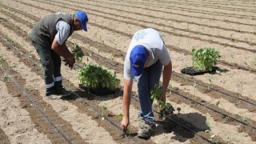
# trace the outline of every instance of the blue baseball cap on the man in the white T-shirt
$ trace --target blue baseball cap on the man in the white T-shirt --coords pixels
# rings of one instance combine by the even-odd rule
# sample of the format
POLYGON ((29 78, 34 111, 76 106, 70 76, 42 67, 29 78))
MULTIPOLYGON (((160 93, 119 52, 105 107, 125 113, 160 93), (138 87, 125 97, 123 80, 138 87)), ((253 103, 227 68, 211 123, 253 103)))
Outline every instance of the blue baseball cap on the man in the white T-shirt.
POLYGON ((130 73, 134 76, 142 74, 144 65, 146 63, 147 50, 144 46, 134 46, 130 51, 130 73))

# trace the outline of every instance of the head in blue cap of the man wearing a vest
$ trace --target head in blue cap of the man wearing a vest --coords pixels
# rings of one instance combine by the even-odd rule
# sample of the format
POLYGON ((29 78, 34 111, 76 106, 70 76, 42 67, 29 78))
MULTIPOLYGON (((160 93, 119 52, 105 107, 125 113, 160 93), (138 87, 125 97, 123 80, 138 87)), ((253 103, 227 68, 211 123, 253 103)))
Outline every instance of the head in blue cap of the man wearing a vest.
POLYGON ((74 30, 85 30, 87 31, 87 22, 88 22, 88 17, 87 14, 79 10, 75 13, 75 18, 74 18, 74 30))

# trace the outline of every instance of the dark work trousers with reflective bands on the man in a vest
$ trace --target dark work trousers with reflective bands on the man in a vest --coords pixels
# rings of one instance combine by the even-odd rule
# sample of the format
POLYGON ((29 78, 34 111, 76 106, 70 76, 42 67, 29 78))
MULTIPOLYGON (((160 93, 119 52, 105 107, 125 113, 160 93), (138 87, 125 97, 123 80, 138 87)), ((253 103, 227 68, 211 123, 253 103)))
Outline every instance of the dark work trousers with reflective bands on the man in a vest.
POLYGON ((42 62, 43 76, 46 84, 46 96, 62 92, 62 60, 50 46, 42 46, 33 42, 42 62))

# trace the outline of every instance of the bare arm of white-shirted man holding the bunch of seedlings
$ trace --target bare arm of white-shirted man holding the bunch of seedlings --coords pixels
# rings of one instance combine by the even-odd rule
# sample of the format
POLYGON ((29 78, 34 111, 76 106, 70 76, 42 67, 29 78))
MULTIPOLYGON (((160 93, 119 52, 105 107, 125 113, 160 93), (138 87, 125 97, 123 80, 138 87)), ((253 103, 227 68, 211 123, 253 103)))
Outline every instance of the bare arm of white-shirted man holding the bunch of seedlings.
POLYGON ((170 82, 171 72, 172 72, 172 63, 170 61, 166 66, 164 66, 164 69, 163 69, 161 99, 164 102, 166 102, 166 90, 170 82))

